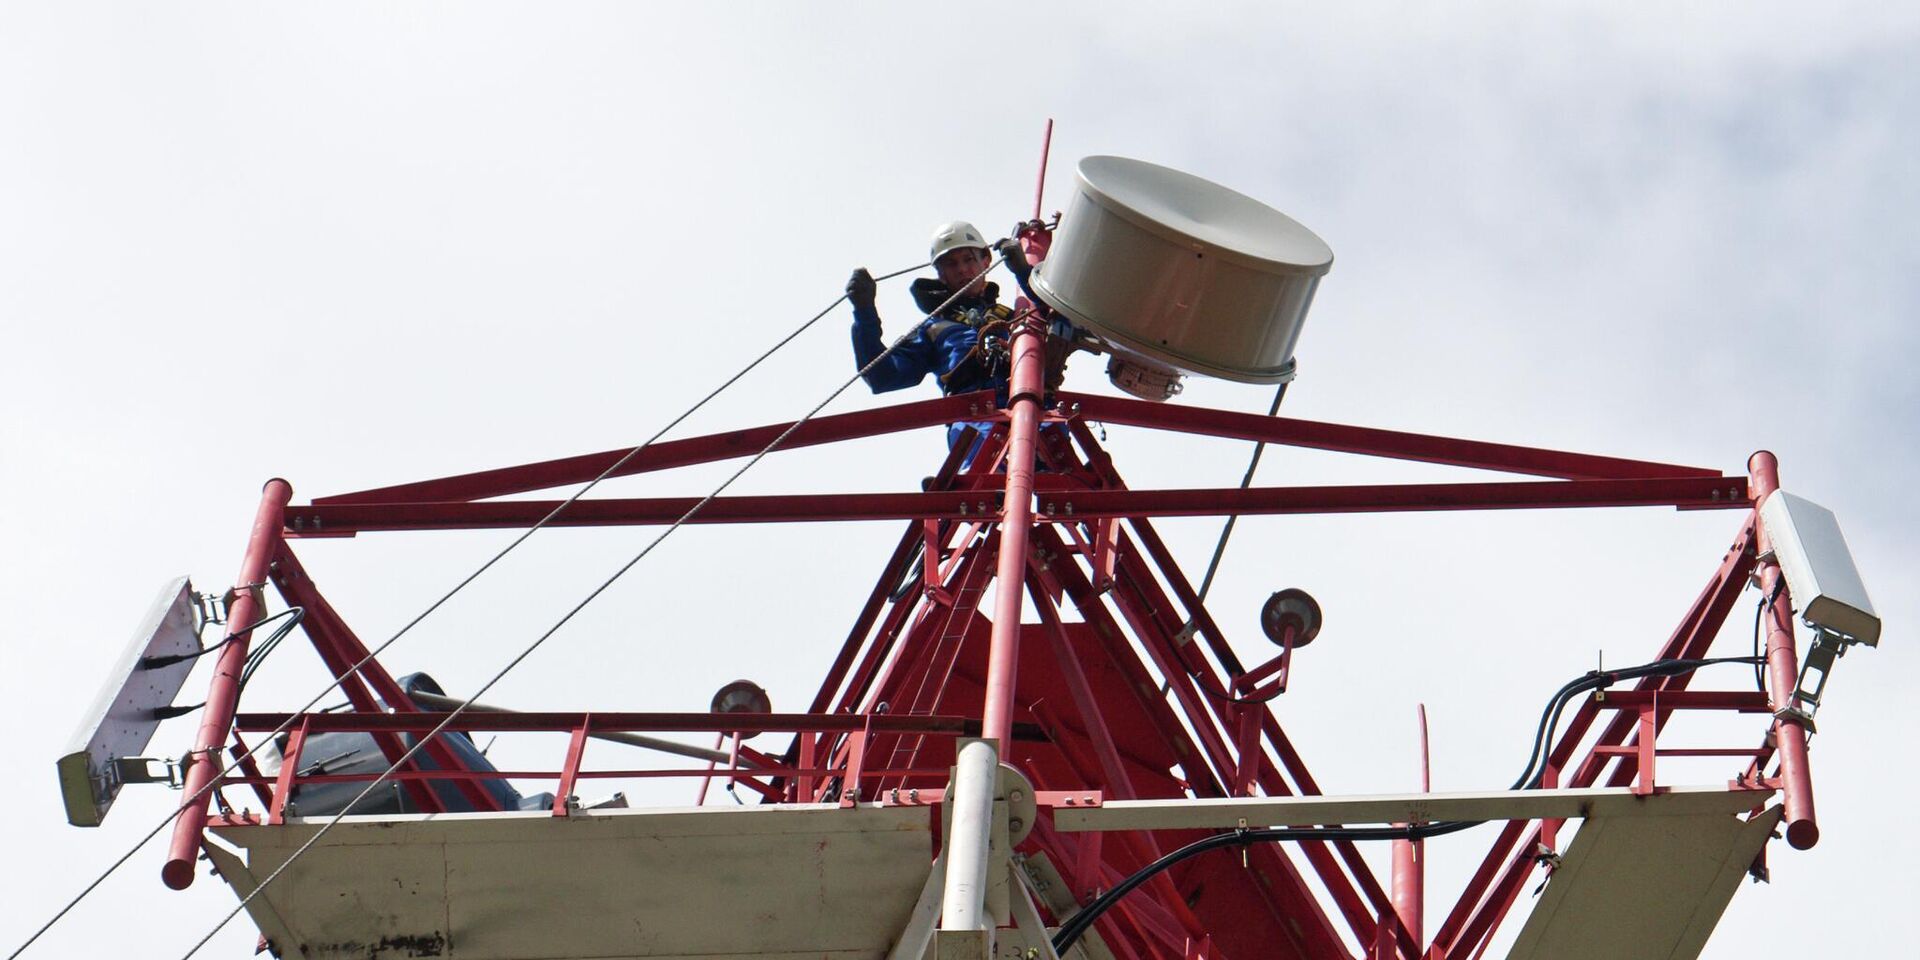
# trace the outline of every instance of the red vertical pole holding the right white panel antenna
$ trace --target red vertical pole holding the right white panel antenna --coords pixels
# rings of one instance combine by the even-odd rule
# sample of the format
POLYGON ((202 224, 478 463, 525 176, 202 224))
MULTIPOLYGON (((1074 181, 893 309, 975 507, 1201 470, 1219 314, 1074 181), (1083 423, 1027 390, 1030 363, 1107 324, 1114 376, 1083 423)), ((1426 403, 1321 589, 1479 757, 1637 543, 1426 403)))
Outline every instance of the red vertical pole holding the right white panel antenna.
MULTIPOLYGON (((1770 451, 1747 459, 1753 509, 1780 488, 1780 461, 1770 451)), ((1766 611, 1766 685, 1774 701, 1774 747, 1780 751, 1780 780, 1786 793, 1788 843, 1805 851, 1820 843, 1820 824, 1812 812, 1812 774, 1807 768, 1807 724, 1793 712, 1799 707, 1793 689, 1799 685, 1799 653, 1793 649, 1793 597, 1788 595, 1780 563, 1772 557, 1766 524, 1759 524, 1761 591, 1774 597, 1766 611)))

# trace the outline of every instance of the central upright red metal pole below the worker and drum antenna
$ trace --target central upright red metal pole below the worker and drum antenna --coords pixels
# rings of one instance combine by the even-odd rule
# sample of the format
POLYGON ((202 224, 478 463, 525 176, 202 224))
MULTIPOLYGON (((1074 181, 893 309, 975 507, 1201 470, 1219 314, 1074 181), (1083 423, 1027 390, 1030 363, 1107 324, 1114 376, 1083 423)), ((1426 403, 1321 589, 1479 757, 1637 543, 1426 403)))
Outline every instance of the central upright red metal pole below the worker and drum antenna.
POLYGON ((1000 516, 1000 566, 995 572, 993 641, 987 653, 987 705, 981 737, 1006 749, 1014 732, 1014 666, 1020 660, 1021 584, 1027 582, 1027 532, 1033 526, 1033 442, 1041 422, 1046 328, 1033 317, 1014 328, 1014 376, 1008 413, 1006 507, 1000 516))

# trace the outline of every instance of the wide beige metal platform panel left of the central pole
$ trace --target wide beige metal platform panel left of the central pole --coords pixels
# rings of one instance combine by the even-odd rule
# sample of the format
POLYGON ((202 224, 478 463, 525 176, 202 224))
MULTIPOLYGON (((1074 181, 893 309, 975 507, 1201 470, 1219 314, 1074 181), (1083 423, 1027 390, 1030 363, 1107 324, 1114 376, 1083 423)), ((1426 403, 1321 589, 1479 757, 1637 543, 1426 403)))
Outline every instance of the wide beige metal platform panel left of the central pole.
MULTIPOLYGON (((879 958, 925 881, 927 816, 785 804, 348 818, 261 897, 294 939, 278 947, 315 960, 879 958)), ((217 835, 257 877, 321 824, 217 835)))

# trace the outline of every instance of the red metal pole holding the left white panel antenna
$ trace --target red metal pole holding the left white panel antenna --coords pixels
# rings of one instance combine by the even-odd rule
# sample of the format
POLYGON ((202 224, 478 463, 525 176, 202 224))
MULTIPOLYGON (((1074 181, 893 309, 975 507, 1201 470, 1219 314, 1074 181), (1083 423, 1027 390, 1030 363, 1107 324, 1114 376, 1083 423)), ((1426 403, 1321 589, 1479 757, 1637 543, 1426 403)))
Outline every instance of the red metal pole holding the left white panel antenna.
MULTIPOLYGON (((253 532, 248 534, 246 557, 240 561, 240 580, 234 584, 234 601, 227 609, 228 624, 246 628, 265 614, 261 589, 267 586, 267 561, 280 547, 280 524, 290 499, 294 488, 286 480, 267 480, 267 488, 261 490, 253 532)), ((177 891, 194 881, 194 860, 207 829, 207 803, 213 801, 209 785, 219 772, 217 756, 227 743, 227 730, 232 728, 234 707, 240 703, 240 670, 246 666, 250 637, 252 632, 234 634, 232 643, 221 649, 213 664, 207 705, 200 712, 200 733, 194 735, 194 751, 188 753, 192 762, 186 766, 180 818, 173 822, 173 845, 167 849, 167 864, 159 868, 159 879, 177 891)))

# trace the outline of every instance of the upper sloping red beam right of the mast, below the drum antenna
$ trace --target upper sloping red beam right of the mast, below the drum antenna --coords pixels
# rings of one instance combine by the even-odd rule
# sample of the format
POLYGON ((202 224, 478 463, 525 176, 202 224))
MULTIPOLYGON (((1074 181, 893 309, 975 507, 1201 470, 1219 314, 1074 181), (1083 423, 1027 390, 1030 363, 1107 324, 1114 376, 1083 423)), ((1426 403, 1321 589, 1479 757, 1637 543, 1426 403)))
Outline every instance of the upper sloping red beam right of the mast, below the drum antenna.
POLYGON ((1480 470, 1559 476, 1565 480, 1720 476, 1718 470, 1707 470, 1703 467, 1594 457, 1590 453, 1567 453, 1559 449, 1517 447, 1511 444, 1486 444, 1480 440, 1404 434, 1398 430, 1294 420, 1290 417, 1261 417, 1258 413, 1231 413, 1206 407, 1181 407, 1173 403, 1148 403, 1142 399, 1096 397, 1091 394, 1062 392, 1058 409, 1068 417, 1110 424, 1150 426, 1156 430, 1179 430, 1183 434, 1223 436, 1235 440, 1263 440, 1267 444, 1284 444, 1290 447, 1332 449, 1340 453, 1365 453, 1371 457, 1394 457, 1421 463, 1446 463, 1452 467, 1473 467, 1480 470))

